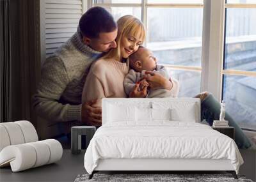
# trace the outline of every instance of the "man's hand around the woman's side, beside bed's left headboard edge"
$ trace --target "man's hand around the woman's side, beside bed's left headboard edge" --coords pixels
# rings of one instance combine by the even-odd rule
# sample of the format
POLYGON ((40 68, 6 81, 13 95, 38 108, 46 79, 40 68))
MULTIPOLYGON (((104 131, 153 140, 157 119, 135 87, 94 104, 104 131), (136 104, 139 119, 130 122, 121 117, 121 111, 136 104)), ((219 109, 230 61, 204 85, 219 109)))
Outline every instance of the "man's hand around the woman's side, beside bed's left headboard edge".
POLYGON ((93 107, 97 100, 83 103, 82 105, 82 123, 91 126, 101 126, 101 107, 93 107))

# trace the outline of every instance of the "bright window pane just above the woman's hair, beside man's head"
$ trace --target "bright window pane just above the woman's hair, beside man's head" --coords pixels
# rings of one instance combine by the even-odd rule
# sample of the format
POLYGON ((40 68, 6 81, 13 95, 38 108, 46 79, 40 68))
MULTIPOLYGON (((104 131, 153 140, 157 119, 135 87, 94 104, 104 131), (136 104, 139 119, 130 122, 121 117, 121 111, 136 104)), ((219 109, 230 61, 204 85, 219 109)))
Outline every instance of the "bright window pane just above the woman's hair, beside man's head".
POLYGON ((115 20, 118 20, 124 15, 134 15, 137 19, 141 20, 141 8, 132 8, 132 7, 104 7, 106 10, 113 15, 115 20))

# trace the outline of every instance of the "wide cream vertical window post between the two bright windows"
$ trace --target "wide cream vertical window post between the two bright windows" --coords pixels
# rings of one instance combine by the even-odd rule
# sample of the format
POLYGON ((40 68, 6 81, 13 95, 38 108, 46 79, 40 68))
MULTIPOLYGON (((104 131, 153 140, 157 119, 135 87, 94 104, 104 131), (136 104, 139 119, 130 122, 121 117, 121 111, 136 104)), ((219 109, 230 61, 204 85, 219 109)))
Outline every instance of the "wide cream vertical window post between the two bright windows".
POLYGON ((204 0, 201 90, 211 92, 219 102, 222 97, 224 27, 225 0, 204 0))

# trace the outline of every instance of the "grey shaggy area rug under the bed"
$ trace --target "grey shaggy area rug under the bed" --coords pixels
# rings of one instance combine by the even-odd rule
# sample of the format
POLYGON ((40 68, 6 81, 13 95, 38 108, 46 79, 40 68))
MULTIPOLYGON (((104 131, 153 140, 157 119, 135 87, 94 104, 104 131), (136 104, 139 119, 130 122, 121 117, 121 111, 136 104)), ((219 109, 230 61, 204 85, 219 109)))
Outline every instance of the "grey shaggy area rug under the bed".
POLYGON ((109 182, 119 182, 119 181, 243 181, 243 182, 253 182, 251 179, 246 179, 244 176, 238 176, 238 179, 234 179, 232 174, 94 174, 92 179, 88 179, 89 174, 78 175, 75 182, 85 182, 85 181, 109 181, 109 182))

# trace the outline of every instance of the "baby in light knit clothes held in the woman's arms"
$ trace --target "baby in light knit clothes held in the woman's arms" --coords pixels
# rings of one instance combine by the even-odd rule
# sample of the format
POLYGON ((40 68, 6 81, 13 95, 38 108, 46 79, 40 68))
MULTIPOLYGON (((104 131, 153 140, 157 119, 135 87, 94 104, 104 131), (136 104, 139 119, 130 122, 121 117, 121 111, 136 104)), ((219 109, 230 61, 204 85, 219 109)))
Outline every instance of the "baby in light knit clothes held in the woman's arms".
POLYGON ((124 79, 124 89, 125 93, 129 93, 134 88, 136 82, 140 82, 140 90, 143 87, 147 87, 147 98, 166 98, 166 97, 176 97, 179 91, 179 84, 177 80, 172 79, 173 86, 175 89, 150 89, 147 80, 143 79, 146 71, 156 72, 170 79, 167 70, 164 66, 157 65, 157 59, 153 56, 153 53, 145 47, 140 47, 134 54, 129 57, 129 65, 131 70, 125 76, 124 79))

